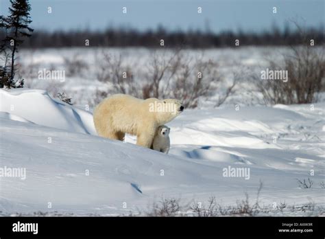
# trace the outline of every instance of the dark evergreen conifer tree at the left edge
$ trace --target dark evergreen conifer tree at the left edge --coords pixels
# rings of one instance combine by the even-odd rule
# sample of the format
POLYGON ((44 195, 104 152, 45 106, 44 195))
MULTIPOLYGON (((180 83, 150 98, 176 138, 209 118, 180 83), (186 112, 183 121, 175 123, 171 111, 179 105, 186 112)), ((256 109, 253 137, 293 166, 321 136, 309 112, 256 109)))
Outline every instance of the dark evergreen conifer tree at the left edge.
MULTIPOLYGON (((32 36, 34 31, 28 25, 32 23, 29 17, 29 11, 31 10, 28 0, 10 0, 11 7, 9 8, 9 16, 0 16, 0 27, 5 29, 6 36, 1 45, 1 49, 8 47, 10 49, 10 72, 3 70, 8 77, 8 82, 5 82, 4 86, 8 88, 23 87, 23 80, 17 85, 17 81, 14 82, 15 54, 18 52, 18 47, 23 43, 24 37, 32 36)), ((3 67, 3 68, 6 68, 3 67)), ((1 79, 1 82, 3 79, 1 79)))

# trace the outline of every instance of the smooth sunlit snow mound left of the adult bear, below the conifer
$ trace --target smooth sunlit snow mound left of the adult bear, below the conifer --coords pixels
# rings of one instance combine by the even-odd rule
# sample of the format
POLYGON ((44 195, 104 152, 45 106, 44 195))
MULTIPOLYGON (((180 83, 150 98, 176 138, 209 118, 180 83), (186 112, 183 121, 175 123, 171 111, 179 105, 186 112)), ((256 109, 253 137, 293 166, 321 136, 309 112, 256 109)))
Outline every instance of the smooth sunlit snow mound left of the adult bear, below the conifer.
POLYGON ((0 111, 9 114, 3 117, 70 132, 96 134, 91 113, 55 100, 46 91, 0 89, 0 98, 0 111))

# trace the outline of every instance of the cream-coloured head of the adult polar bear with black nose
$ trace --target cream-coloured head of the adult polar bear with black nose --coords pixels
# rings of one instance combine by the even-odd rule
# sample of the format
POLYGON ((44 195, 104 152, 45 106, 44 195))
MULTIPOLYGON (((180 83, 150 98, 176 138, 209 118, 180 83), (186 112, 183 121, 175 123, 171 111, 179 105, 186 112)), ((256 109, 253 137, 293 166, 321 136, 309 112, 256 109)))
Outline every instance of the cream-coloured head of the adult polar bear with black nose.
POLYGON ((147 102, 149 103, 149 112, 155 113, 158 125, 170 122, 184 111, 184 106, 176 99, 158 100, 150 98, 147 99, 147 102))

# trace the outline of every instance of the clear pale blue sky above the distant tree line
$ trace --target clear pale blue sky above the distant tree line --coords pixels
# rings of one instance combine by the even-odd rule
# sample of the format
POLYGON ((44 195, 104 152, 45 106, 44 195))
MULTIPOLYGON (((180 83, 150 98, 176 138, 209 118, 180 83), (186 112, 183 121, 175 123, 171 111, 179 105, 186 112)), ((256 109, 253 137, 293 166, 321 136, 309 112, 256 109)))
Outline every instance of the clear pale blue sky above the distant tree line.
MULTIPOLYGON (((267 30, 295 20, 306 27, 324 25, 324 0, 30 0, 32 27, 71 30, 108 26, 138 30, 267 30), (202 7, 202 14, 197 8, 202 7), (277 8, 277 14, 272 12, 277 8), (47 8, 52 8, 52 13, 47 8), (122 13, 126 7, 127 14, 122 13)), ((8 14, 9 0, 0 0, 0 14, 8 14)))

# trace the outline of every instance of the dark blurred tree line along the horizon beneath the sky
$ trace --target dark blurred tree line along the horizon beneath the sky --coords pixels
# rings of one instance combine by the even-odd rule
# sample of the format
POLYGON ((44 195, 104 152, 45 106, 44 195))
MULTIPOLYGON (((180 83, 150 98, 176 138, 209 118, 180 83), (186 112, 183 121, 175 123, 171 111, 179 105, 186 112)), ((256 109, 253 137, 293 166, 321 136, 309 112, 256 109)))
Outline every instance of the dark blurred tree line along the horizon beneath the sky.
MULTIPOLYGON (((322 27, 305 30, 307 38, 313 38, 316 45, 324 43, 322 27)), ((1 34, 1 33, 0 33, 1 34)), ((3 34, 3 33, 2 33, 3 34)), ((134 29, 110 28, 103 31, 75 30, 47 32, 35 31, 31 38, 27 38, 22 47, 81 47, 89 40, 91 47, 160 47, 160 39, 164 40, 165 47, 182 48, 209 48, 234 47, 235 40, 239 39, 243 45, 299 45, 300 32, 285 27, 279 30, 272 27, 265 32, 202 32, 189 30, 187 32, 169 32, 163 27, 156 30, 141 32, 134 29)))

